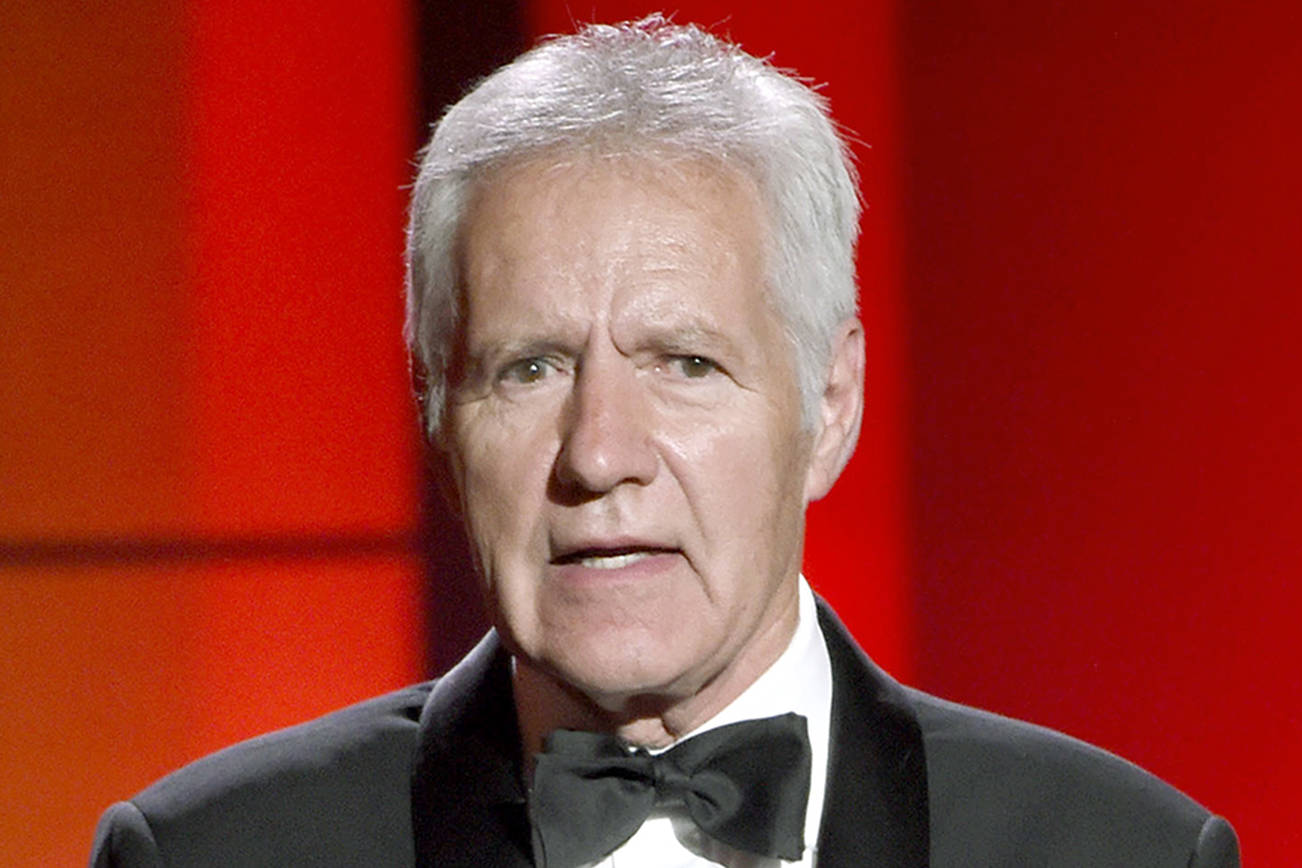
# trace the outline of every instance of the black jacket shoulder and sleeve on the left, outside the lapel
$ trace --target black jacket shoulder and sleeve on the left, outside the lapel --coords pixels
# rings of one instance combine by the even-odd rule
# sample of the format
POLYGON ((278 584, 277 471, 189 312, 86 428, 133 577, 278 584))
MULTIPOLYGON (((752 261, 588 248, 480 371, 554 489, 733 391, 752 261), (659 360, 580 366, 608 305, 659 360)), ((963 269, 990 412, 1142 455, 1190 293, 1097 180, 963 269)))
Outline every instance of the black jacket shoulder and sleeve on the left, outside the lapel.
POLYGON ((111 808, 92 864, 404 864, 431 683, 206 756, 111 808))

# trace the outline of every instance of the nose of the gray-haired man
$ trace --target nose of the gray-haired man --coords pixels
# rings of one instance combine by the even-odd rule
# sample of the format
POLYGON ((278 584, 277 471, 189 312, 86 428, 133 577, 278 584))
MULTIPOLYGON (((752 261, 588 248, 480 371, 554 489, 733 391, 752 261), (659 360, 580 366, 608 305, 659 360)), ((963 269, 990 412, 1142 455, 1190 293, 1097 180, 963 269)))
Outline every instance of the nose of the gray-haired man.
POLYGON ((651 413, 628 359, 585 359, 561 422, 556 481, 569 500, 591 500, 625 483, 650 484, 659 468, 651 413))

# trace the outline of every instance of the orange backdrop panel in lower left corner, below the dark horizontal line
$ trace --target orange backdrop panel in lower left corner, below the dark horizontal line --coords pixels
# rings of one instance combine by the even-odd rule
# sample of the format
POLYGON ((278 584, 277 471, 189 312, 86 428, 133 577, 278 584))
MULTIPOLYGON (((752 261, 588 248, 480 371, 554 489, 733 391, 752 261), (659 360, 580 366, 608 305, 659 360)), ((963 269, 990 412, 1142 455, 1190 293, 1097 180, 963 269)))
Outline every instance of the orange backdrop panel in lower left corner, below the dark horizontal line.
POLYGON ((99 813, 194 755, 185 570, 0 573, 0 838, 10 865, 85 864, 99 813))

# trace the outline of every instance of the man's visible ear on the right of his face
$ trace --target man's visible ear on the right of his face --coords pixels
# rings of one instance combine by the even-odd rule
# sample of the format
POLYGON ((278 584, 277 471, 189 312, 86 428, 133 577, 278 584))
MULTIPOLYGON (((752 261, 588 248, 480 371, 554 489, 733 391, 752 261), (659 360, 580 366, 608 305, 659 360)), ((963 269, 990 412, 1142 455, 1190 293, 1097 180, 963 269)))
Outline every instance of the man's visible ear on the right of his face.
POLYGON ((805 480, 805 502, 832 489, 859 440, 863 419, 863 325, 852 318, 832 337, 827 384, 815 419, 814 449, 805 480))

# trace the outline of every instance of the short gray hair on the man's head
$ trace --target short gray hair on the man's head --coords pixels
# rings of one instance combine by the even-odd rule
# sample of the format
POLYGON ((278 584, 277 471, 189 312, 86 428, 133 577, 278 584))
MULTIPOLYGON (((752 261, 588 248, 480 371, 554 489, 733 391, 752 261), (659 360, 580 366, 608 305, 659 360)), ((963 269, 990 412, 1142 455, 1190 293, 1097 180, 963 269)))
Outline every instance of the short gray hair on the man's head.
POLYGON ((703 157, 755 181, 767 281, 794 353, 803 419, 833 333, 855 314, 859 200, 827 102, 734 44, 659 14, 544 42, 452 105, 421 154, 408 226, 406 337, 439 431, 458 318, 457 239, 470 190, 542 152, 703 157))

